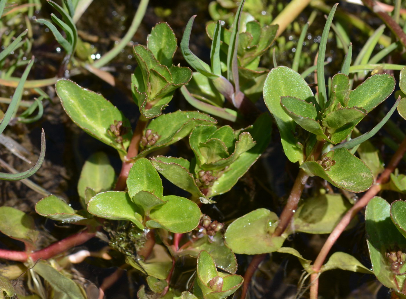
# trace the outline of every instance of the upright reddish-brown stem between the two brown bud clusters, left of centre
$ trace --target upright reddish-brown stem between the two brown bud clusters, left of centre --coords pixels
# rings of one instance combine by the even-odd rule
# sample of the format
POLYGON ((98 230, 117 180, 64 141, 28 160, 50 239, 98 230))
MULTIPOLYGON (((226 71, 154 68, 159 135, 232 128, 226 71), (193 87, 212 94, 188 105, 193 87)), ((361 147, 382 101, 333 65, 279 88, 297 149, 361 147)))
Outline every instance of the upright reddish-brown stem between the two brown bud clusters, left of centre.
POLYGON ((114 188, 114 191, 123 191, 127 186, 126 180, 128 178, 128 173, 135 160, 133 159, 138 155, 138 148, 140 146, 141 137, 143 137, 143 131, 147 127, 148 119, 142 115, 138 119, 137 126, 132 134, 130 146, 127 150, 127 155, 124 157, 123 165, 121 166, 121 171, 119 177, 117 178, 117 183, 114 188))

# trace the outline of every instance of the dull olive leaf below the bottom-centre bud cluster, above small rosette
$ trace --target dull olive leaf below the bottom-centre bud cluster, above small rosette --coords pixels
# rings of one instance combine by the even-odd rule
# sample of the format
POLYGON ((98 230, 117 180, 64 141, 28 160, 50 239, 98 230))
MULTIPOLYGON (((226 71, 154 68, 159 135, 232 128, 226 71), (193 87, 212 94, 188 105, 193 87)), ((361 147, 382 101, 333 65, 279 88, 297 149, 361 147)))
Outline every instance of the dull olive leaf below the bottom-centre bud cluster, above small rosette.
POLYGON ((235 259, 233 251, 225 244, 221 232, 217 232, 210 239, 208 236, 203 236, 191 243, 188 247, 177 251, 176 254, 179 256, 192 256, 197 258, 199 252, 202 250, 210 252, 217 268, 231 274, 237 271, 237 260, 235 259))

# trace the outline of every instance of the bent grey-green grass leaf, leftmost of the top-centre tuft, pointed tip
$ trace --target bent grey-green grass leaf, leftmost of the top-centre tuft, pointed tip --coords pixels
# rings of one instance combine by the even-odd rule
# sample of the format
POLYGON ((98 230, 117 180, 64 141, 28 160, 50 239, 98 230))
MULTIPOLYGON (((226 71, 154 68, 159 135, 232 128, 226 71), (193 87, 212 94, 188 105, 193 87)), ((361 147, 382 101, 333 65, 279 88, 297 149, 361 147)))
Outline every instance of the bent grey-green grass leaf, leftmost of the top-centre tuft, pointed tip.
POLYGON ((190 33, 192 32, 193 21, 196 15, 193 15, 188 24, 186 24, 185 31, 183 32, 182 40, 180 42, 180 50, 183 57, 197 72, 205 75, 207 78, 216 79, 218 76, 211 72, 210 66, 201 60, 199 57, 193 54, 189 49, 190 33))

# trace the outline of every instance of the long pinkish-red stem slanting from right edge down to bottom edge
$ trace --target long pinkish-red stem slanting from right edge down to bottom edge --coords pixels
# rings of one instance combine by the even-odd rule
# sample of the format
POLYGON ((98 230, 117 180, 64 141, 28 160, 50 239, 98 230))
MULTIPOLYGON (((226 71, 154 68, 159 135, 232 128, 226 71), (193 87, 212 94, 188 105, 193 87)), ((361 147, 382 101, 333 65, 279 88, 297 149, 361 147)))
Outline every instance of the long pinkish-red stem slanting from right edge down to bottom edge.
POLYGON ((344 215, 344 217, 340 220, 337 226, 334 228, 333 232, 331 232, 330 236, 328 236, 326 243, 324 243, 322 249, 320 250, 319 255, 317 256, 314 264, 313 264, 313 273, 311 275, 310 280, 314 281, 315 283, 310 287, 310 299, 317 299, 318 293, 318 279, 317 273, 320 271, 324 260, 326 260, 327 254, 330 251, 331 247, 333 247, 334 243, 337 241, 341 233, 346 229, 352 218, 363 208, 365 207, 369 200, 376 196, 378 192, 381 190, 381 184, 388 182, 389 176, 395 170, 397 164, 399 164, 400 160, 402 159, 403 155, 406 153, 406 138, 402 141, 400 146, 398 147, 395 154, 392 156, 391 161, 389 162, 388 166, 382 172, 378 180, 372 185, 372 187, 361 197, 350 210, 344 215))

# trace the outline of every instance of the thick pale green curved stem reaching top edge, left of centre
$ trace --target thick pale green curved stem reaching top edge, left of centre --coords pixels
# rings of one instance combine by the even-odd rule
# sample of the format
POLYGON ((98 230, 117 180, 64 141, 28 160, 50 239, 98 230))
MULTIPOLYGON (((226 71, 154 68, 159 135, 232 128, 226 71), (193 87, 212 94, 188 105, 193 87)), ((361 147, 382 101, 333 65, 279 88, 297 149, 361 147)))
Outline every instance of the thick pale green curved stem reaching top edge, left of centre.
POLYGON ((93 63, 93 67, 100 68, 106 65, 108 62, 110 62, 110 60, 112 60, 115 56, 117 56, 117 54, 119 54, 121 50, 124 49, 127 43, 131 41, 131 39, 134 37, 134 34, 138 30, 138 26, 140 26, 141 21, 144 18, 145 11, 147 11, 148 2, 149 0, 140 1, 140 5, 138 5, 137 12, 134 15, 134 19, 132 20, 132 23, 130 25, 130 28, 128 28, 127 33, 114 48, 112 48, 110 51, 108 51, 106 54, 100 57, 99 60, 95 61, 95 63, 93 63))

